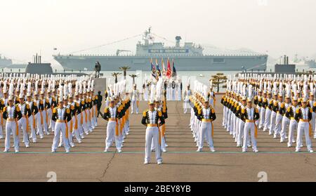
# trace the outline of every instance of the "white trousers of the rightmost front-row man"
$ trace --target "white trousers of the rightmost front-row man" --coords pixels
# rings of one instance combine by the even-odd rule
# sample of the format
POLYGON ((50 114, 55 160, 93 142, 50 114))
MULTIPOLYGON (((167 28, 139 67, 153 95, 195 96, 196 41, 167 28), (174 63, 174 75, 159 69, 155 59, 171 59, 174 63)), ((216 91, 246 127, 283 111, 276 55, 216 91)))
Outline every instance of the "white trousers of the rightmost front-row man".
POLYGON ((303 133, 305 134, 305 141, 308 150, 312 150, 312 141, 310 141, 309 130, 310 124, 308 122, 298 122, 297 136, 296 136, 296 150, 301 149, 303 145, 303 133))

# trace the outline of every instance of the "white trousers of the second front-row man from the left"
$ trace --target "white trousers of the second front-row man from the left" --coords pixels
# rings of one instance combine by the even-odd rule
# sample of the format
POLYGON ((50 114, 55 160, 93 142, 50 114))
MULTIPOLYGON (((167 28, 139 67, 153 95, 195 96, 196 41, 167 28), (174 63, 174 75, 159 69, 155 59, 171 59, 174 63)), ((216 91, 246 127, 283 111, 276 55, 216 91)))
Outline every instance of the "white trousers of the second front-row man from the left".
POLYGON ((54 139, 53 139, 53 145, 51 146, 51 150, 55 151, 58 148, 58 143, 60 140, 60 133, 62 135, 62 141, 64 148, 67 151, 70 150, 69 141, 66 138, 66 124, 65 122, 55 122, 55 132, 54 132, 54 139))

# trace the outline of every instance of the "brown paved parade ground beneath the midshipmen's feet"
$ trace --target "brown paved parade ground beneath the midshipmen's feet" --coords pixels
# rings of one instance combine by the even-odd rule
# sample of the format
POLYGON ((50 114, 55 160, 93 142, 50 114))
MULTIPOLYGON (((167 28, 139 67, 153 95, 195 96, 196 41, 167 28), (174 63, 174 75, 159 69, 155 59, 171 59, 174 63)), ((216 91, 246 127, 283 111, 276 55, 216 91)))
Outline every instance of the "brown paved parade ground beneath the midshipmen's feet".
MULTIPOLYGON (((166 120, 168 152, 163 152, 164 164, 157 165, 152 152, 151 164, 144 165, 145 126, 140 124, 141 114, 131 115, 131 131, 124 143, 123 152, 103 152, 105 149, 106 122, 98 119, 98 127, 85 136, 83 143, 66 154, 64 148, 51 153, 53 134, 30 143, 20 152, 4 153, 4 139, 0 141, 0 181, 316 181, 315 153, 294 152, 287 143, 279 143, 267 132, 258 131, 260 152, 242 153, 222 124, 223 107, 217 98, 214 122, 214 146, 209 152, 196 152, 189 129, 190 115, 184 115, 183 103, 169 101, 169 118, 166 120)), ((146 102, 140 102, 140 111, 146 102)), ((141 112, 140 112, 141 113, 141 112)), ((20 137, 22 138, 22 137, 20 137)), ((313 146, 315 139, 312 140, 313 146)), ((305 141, 304 141, 305 144, 305 141)), ((12 139, 11 139, 12 145, 12 139)), ((306 151, 306 148, 302 148, 306 151)), ((315 149, 314 149, 315 150, 315 149)))

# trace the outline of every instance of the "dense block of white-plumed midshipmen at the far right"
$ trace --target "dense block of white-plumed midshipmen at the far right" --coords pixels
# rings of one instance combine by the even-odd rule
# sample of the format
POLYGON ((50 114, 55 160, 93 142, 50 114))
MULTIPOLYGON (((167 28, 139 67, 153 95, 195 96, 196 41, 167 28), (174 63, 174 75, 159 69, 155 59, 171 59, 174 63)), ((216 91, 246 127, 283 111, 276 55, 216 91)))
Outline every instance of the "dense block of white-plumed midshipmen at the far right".
POLYGON ((308 152, 313 152, 311 139, 315 129, 315 75, 239 74, 227 81, 222 97, 223 126, 235 138, 237 147, 256 147, 258 129, 269 131, 281 143, 296 152, 303 147, 303 134, 308 152), (296 139, 294 138, 296 132, 296 139), (249 138, 251 134, 251 140, 249 138))

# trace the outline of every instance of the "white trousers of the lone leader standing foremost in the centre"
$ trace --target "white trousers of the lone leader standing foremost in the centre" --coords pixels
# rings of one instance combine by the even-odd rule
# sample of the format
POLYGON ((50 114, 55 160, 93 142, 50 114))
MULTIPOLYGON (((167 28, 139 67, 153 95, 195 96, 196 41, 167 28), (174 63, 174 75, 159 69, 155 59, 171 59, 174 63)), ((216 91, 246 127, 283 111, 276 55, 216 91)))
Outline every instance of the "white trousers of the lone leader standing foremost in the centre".
POLYGON ((145 135, 145 162, 150 162, 151 157, 151 146, 152 142, 154 142, 154 146, 156 147, 155 154, 157 162, 162 161, 162 150, 160 149, 159 145, 159 129, 156 126, 150 127, 147 126, 146 128, 146 135, 145 135))

